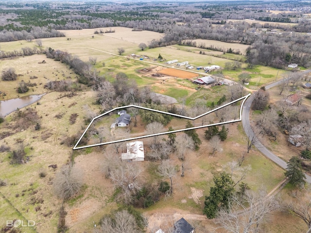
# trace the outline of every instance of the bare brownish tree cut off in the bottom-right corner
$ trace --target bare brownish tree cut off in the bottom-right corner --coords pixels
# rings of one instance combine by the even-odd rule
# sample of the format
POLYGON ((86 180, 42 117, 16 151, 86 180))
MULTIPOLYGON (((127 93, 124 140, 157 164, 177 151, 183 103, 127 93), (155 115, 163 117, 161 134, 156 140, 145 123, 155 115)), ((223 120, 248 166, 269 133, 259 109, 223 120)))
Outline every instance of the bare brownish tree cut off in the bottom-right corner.
POLYGON ((307 224, 307 233, 311 233, 311 196, 307 190, 292 191, 282 206, 284 211, 301 218, 307 224))

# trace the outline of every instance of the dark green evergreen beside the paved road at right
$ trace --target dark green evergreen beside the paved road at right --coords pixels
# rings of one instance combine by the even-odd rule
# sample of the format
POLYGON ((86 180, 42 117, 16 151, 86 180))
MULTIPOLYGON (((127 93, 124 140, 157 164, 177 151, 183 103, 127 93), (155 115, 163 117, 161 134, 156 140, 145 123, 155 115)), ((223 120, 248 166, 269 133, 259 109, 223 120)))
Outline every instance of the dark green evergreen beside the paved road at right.
POLYGON ((302 171, 301 159, 298 157, 292 157, 287 162, 285 176, 289 179, 289 182, 294 186, 303 186, 305 184, 306 175, 302 171))

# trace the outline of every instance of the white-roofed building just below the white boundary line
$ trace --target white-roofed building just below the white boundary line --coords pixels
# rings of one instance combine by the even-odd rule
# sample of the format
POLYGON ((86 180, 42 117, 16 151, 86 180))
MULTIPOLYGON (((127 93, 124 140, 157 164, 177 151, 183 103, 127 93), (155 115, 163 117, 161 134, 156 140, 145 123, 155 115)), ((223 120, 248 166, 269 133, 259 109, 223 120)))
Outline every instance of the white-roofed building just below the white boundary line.
POLYGON ((126 143, 126 153, 121 154, 122 161, 144 161, 144 144, 142 141, 126 143))

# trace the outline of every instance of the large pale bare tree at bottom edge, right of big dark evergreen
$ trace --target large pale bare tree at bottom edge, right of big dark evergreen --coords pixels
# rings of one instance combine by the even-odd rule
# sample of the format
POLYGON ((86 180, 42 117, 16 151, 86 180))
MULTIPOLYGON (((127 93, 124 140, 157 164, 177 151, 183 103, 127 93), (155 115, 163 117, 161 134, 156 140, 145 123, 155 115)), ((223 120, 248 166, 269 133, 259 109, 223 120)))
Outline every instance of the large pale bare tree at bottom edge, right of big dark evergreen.
POLYGON ((221 225, 219 228, 232 233, 258 233, 264 218, 278 206, 273 196, 267 197, 263 191, 247 190, 242 198, 234 196, 229 200, 228 208, 219 211, 216 223, 221 225))

